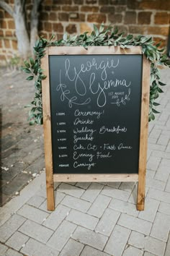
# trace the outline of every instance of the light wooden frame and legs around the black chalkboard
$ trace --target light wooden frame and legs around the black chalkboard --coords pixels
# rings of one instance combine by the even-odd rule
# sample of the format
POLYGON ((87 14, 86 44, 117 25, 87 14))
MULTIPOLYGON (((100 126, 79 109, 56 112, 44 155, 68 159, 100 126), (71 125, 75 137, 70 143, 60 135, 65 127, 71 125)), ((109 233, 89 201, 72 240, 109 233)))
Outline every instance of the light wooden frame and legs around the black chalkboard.
POLYGON ((140 46, 131 48, 120 48, 119 46, 89 46, 86 50, 82 46, 59 46, 46 49, 42 58, 42 69, 46 75, 42 80, 42 108, 43 127, 45 143, 45 172, 48 210, 55 209, 54 182, 138 182, 137 209, 144 210, 145 187, 146 187, 146 157, 148 143, 148 109, 150 94, 150 63, 142 54, 140 46), (139 135, 139 158, 138 174, 54 174, 53 173, 53 147, 51 132, 51 104, 50 104, 50 56, 85 56, 85 55, 141 55, 142 79, 141 79, 141 101, 140 101, 140 135, 139 135))

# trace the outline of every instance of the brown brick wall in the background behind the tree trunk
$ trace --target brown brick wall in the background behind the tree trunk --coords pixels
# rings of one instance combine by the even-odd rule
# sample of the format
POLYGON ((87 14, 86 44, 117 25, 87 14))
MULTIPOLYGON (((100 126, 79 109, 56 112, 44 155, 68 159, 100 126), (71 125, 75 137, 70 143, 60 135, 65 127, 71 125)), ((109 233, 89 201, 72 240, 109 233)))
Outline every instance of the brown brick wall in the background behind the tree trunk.
MULTIPOLYGON (((8 0, 12 3, 13 0, 8 0)), ((31 6, 27 6, 30 12, 31 6)), ((91 31, 93 23, 112 23, 133 35, 152 35, 167 44, 170 0, 44 0, 40 7, 40 35, 91 31)), ((14 21, 0 9, 0 61, 17 54, 14 21)))

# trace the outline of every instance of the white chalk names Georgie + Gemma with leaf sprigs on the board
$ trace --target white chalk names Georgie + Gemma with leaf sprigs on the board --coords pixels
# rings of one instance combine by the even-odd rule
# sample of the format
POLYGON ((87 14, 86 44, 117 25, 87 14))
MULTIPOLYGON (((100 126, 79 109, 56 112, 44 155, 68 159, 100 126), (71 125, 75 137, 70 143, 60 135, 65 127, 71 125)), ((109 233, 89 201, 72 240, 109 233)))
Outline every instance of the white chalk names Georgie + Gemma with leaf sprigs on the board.
MULTIPOLYGON (((74 105, 83 106, 91 102, 91 98, 87 98, 86 95, 96 95, 97 96, 97 106, 100 108, 104 107, 107 103, 107 90, 112 90, 113 88, 126 88, 128 93, 120 96, 111 102, 116 106, 120 104, 125 105, 126 102, 130 101, 130 85, 131 81, 125 79, 118 80, 114 77, 115 72, 113 71, 120 65, 120 60, 107 59, 107 61, 100 61, 97 63, 96 59, 93 58, 91 61, 86 61, 86 63, 81 64, 79 67, 75 67, 71 64, 70 59, 66 59, 64 70, 60 70, 60 83, 57 85, 56 90, 61 91, 61 101, 65 99, 68 101, 68 106, 72 108, 74 105), (98 71, 98 72, 97 72, 98 71), (96 74, 97 73, 97 74, 96 74), (112 74, 113 79, 108 80, 108 74, 112 74), (86 81, 82 79, 82 74, 85 74, 86 81), (100 78, 100 82, 97 82, 96 76, 100 78), (100 76, 100 77, 99 77, 100 76), (68 90, 68 85, 62 82, 62 77, 64 80, 73 83, 73 89, 75 95, 68 90), (72 95, 71 95, 72 94, 72 95), (85 98, 84 101, 81 99, 85 98)), ((110 77, 110 75, 109 75, 110 77)))

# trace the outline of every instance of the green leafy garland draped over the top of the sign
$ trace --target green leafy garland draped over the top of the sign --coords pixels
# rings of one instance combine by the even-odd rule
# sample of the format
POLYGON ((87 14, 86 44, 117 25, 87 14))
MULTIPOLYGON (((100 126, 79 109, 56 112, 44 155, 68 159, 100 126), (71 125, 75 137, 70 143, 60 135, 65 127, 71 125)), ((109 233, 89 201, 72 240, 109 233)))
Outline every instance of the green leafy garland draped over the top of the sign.
POLYGON ((24 72, 30 74, 27 80, 35 81, 35 97, 29 105, 31 107, 29 111, 30 124, 43 123, 41 82, 45 79, 45 75, 41 69, 41 59, 45 56, 45 48, 49 46, 84 46, 86 49, 88 46, 120 46, 121 48, 141 46, 143 54, 151 61, 150 110, 148 120, 154 120, 154 114, 159 113, 154 107, 160 105, 155 100, 158 98, 159 93, 163 93, 161 86, 165 85, 160 81, 158 66, 170 67, 170 60, 163 54, 164 48, 158 48, 161 42, 154 45, 152 38, 147 38, 143 35, 138 35, 137 37, 128 35, 123 37, 123 34, 118 32, 117 27, 109 26, 104 29, 104 24, 102 24, 99 29, 94 25, 94 31, 90 35, 88 35, 88 32, 85 32, 82 35, 70 37, 65 33, 61 40, 53 40, 54 35, 51 36, 50 40, 40 37, 34 47, 35 59, 30 58, 28 61, 24 61, 24 67, 22 67, 24 72))

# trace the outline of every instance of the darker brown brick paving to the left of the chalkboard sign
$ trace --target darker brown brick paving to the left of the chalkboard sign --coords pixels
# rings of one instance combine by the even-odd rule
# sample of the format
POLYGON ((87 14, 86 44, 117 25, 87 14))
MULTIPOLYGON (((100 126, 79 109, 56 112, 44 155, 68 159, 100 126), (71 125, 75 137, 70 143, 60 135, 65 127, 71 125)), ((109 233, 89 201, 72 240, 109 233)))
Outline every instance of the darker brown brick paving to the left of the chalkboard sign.
POLYGON ((30 127, 34 86, 19 72, 0 72, 0 206, 44 168, 42 127, 30 127), (33 176, 32 176, 33 175, 33 176))

